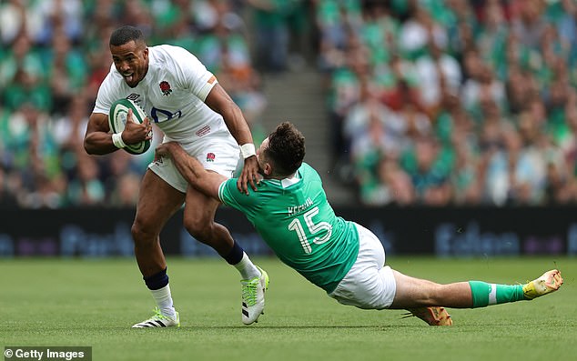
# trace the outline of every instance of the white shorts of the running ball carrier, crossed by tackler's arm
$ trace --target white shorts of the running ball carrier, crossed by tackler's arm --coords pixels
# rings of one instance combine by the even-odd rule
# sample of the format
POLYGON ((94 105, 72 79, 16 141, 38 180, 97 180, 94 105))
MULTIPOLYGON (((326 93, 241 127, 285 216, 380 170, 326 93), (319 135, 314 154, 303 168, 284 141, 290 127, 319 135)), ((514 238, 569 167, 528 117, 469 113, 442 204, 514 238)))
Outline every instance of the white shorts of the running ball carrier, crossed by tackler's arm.
MULTIPOLYGON (((194 143, 183 145, 189 155, 205 167, 228 178, 234 175, 240 159, 240 149, 228 130, 197 139, 194 143)), ((162 157, 148 165, 148 168, 161 177, 167 184, 182 193, 187 193, 188 183, 180 175, 172 159, 162 157)))

